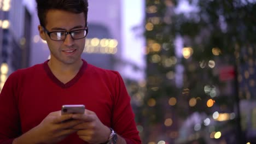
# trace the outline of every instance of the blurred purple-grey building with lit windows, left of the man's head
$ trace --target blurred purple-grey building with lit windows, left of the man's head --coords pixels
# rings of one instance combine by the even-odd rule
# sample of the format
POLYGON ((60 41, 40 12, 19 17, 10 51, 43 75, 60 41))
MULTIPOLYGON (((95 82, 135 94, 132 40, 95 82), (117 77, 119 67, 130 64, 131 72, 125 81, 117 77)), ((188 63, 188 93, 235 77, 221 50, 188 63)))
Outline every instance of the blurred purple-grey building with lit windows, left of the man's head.
POLYGON ((32 11, 25 1, 0 1, 1 87, 13 71, 30 65, 32 11))

